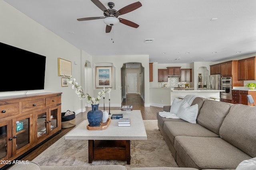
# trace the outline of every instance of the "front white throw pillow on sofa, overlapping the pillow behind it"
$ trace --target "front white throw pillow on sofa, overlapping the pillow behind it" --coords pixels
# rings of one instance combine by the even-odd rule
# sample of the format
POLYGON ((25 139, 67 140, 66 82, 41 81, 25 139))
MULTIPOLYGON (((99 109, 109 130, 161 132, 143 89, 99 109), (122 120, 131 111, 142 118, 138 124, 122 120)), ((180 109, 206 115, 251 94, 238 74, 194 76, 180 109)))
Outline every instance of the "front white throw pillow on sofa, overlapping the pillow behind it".
POLYGON ((188 102, 183 102, 178 109, 177 116, 180 119, 188 121, 189 123, 196 124, 196 118, 198 115, 198 104, 190 106, 188 102))

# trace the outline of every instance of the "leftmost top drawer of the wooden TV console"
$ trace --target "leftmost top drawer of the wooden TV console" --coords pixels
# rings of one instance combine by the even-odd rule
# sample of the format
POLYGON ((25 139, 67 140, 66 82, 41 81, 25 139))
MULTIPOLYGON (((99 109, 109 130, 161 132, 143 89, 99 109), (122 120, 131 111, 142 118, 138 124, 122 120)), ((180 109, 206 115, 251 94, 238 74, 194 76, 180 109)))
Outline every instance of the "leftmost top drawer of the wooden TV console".
POLYGON ((19 103, 5 104, 0 106, 0 118, 19 114, 19 103))

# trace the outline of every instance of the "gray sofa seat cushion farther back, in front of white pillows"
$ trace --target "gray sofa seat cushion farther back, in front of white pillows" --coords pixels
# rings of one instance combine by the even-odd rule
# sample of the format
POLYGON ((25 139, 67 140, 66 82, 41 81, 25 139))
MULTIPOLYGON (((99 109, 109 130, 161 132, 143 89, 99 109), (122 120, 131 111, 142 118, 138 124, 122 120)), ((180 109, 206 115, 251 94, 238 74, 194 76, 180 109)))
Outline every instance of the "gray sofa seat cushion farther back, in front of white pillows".
POLYGON ((164 132, 173 145, 176 136, 219 137, 219 135, 201 125, 188 122, 164 122, 164 132))

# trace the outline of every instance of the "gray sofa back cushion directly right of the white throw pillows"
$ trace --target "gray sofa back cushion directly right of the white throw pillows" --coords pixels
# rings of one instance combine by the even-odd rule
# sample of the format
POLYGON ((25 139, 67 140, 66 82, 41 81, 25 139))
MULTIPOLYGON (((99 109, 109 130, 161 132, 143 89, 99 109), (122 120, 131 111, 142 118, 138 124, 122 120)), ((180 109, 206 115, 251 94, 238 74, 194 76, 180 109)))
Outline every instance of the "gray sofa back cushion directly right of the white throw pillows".
POLYGON ((231 106, 226 102, 205 100, 196 122, 219 135, 220 126, 231 106))

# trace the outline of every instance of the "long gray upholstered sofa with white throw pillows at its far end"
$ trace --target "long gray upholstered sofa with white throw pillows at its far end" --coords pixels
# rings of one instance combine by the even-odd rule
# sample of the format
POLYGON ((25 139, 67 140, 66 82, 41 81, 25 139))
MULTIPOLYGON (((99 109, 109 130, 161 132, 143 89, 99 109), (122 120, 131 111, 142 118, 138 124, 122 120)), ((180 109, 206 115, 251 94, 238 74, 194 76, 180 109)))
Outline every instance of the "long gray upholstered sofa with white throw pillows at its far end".
POLYGON ((157 112, 158 127, 180 167, 235 169, 256 157, 256 107, 201 97, 194 98, 195 104, 196 124, 157 112))

